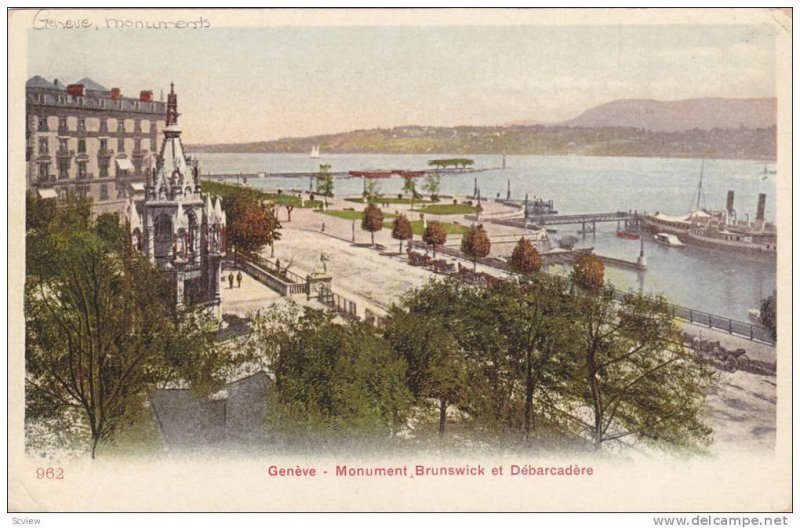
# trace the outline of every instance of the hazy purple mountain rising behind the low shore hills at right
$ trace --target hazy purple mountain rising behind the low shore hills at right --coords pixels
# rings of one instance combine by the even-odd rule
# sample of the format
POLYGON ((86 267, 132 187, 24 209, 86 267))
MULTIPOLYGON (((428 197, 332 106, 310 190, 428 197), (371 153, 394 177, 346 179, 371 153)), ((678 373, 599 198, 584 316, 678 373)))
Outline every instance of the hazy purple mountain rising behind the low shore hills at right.
POLYGON ((764 99, 620 99, 586 110, 569 121, 573 127, 633 127, 655 132, 699 128, 768 128, 777 120, 777 100, 764 99))

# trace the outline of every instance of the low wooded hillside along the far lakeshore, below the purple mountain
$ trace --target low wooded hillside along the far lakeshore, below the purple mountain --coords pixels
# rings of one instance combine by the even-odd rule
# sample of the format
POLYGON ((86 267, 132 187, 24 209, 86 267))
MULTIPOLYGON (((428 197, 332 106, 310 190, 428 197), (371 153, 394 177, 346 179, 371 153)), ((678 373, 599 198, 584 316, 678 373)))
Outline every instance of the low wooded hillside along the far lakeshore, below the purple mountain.
POLYGON ((653 132, 642 128, 567 126, 426 127, 354 130, 255 143, 190 145, 190 152, 385 154, 538 154, 774 159, 776 129, 729 128, 653 132))

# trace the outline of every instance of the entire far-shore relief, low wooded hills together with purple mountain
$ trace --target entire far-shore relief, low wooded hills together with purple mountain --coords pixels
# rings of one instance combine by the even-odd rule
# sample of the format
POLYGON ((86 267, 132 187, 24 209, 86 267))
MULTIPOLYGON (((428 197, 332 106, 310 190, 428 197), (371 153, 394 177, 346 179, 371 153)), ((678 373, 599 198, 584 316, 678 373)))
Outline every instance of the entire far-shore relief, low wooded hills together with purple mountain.
POLYGON ((407 125, 250 143, 190 145, 193 152, 534 154, 774 159, 775 99, 620 99, 561 123, 407 125))

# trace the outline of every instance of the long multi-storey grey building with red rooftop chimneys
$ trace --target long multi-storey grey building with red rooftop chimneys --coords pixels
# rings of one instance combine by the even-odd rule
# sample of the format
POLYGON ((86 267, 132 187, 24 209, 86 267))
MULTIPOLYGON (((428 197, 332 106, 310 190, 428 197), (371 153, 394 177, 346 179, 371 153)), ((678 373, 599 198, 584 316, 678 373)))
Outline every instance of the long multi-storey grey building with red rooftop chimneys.
POLYGON ((166 121, 166 103, 124 97, 91 79, 26 83, 26 179, 44 198, 90 196, 94 211, 122 212, 141 193, 166 121))

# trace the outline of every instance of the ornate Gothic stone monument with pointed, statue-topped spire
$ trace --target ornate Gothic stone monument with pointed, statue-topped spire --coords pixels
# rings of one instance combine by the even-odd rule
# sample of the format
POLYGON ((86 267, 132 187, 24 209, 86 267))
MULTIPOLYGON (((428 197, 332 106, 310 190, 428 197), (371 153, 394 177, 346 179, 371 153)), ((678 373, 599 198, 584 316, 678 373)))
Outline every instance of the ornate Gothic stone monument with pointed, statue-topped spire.
POLYGON ((130 199, 134 249, 170 275, 175 305, 204 307, 220 317, 226 218, 222 200, 200 192, 200 169, 187 157, 178 126, 178 96, 167 96, 163 141, 144 177, 144 199, 130 199))

